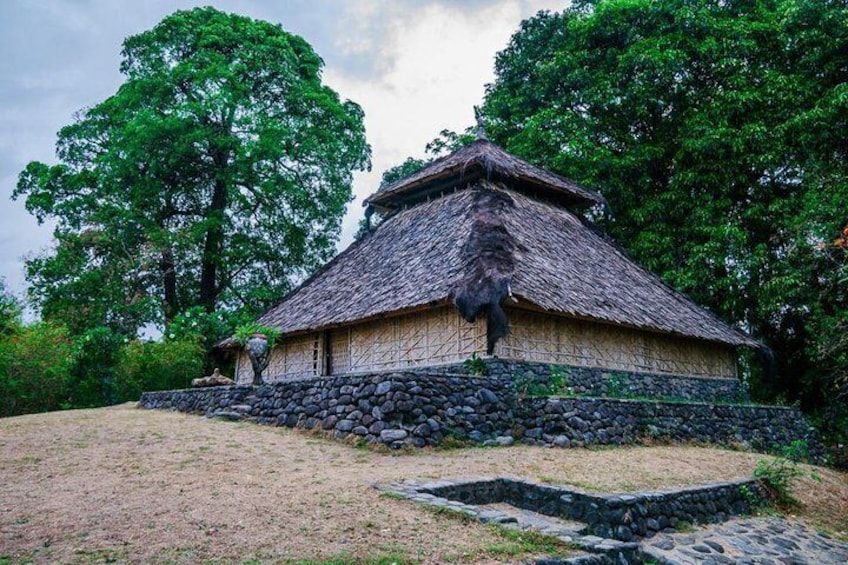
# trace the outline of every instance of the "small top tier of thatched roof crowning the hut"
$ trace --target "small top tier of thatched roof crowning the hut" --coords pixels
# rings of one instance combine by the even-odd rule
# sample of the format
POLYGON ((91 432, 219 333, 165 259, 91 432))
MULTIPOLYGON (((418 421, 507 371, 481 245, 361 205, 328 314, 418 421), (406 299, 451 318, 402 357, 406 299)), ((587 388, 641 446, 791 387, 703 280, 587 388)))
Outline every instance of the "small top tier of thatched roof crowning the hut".
POLYGON ((570 207, 587 207, 604 201, 597 192, 522 161, 484 138, 381 187, 365 204, 394 210, 456 187, 464 188, 481 178, 503 181, 527 194, 570 207))

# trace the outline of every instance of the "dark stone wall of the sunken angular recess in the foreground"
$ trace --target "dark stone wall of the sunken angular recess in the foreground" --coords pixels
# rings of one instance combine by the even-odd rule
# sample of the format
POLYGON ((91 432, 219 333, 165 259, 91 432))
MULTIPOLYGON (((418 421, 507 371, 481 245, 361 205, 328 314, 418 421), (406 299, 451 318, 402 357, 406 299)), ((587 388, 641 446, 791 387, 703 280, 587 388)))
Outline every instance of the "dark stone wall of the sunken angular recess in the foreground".
POLYGON ((439 481, 416 491, 465 504, 506 502, 546 516, 583 522, 592 535, 620 541, 653 537, 681 522, 723 522, 730 516, 749 513, 751 502, 765 499, 759 482, 753 479, 632 494, 594 494, 514 479, 439 481))

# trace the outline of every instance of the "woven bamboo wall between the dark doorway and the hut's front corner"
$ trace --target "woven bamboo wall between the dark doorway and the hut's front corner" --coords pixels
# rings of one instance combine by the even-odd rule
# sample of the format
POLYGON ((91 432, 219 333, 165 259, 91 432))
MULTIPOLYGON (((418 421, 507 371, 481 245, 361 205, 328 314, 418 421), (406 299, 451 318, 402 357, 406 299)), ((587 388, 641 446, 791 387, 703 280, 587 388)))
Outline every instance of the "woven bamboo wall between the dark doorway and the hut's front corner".
POLYGON ((331 330, 331 373, 464 361, 486 350, 486 324, 469 324, 453 307, 331 330))

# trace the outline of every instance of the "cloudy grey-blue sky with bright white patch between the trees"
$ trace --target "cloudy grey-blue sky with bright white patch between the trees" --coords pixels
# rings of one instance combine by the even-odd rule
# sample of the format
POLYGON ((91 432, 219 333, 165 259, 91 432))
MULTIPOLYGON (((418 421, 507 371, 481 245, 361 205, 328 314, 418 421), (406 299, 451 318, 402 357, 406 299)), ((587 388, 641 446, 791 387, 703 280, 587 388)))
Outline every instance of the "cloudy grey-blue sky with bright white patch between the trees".
POLYGON ((123 39, 176 10, 213 5, 282 24, 324 59, 325 82, 362 106, 373 171, 355 178, 345 247, 381 173, 422 156, 440 130, 470 125, 494 56, 521 20, 565 3, 0 0, 0 277, 23 293, 23 258, 51 244, 51 227, 38 226, 23 202, 10 199, 18 173, 32 160, 55 162, 56 132, 121 84, 123 39))

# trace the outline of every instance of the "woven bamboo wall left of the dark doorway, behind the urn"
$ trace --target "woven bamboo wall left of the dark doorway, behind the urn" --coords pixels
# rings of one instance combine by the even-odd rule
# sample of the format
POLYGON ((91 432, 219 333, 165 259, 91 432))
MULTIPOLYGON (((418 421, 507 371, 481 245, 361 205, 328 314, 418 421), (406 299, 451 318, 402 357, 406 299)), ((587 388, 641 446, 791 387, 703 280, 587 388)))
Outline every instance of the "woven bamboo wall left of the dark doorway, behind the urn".
MULTIPOLYGON (((263 372, 266 382, 290 381, 324 374, 324 348, 321 334, 311 333, 295 337, 283 337, 281 343, 271 351, 268 368, 263 372)), ((253 382, 253 367, 246 351, 239 354, 236 366, 236 382, 253 382)))

